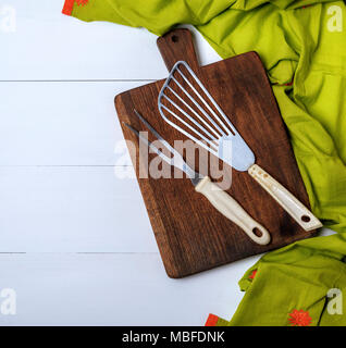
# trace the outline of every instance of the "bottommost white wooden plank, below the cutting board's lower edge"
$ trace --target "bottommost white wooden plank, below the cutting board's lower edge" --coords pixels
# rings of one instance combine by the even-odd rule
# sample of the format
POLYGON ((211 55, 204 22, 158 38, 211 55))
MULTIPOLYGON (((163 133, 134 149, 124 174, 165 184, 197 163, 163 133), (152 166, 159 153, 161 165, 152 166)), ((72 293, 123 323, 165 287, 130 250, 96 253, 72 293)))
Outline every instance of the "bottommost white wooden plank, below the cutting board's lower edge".
POLYGON ((158 254, 0 254, 0 290, 17 296, 16 315, 0 314, 0 325, 203 325, 210 312, 231 319, 243 297, 237 281, 257 259, 170 279, 158 254))

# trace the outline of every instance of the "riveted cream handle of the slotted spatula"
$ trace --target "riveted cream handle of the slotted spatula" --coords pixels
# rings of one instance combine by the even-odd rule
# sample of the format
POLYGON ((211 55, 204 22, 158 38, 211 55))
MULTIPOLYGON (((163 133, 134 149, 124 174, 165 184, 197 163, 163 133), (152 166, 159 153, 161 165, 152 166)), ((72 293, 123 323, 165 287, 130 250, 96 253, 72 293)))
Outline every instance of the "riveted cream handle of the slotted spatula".
POLYGON ((277 183, 259 165, 254 164, 248 173, 285 209, 285 211, 305 229, 322 227, 321 222, 286 188, 277 183))

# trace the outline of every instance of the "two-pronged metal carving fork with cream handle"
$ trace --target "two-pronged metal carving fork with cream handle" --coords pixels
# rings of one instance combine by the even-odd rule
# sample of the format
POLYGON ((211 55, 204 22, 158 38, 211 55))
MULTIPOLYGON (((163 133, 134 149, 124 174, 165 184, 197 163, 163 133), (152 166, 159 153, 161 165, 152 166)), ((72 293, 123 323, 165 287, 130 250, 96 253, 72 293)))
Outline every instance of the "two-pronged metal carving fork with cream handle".
POLYGON ((183 171, 191 181, 196 191, 202 194, 220 213, 237 224, 255 243, 259 245, 267 245, 270 243, 270 234, 268 231, 258 222, 256 222, 235 199, 222 190, 218 185, 212 183, 208 176, 203 176, 195 172, 184 161, 181 153, 177 152, 168 141, 165 141, 137 110, 134 110, 134 112, 140 122, 145 124, 147 128, 157 137, 157 139, 159 139, 160 142, 171 152, 172 157, 165 156, 152 142, 143 136, 141 133, 136 130, 129 124, 125 123, 127 128, 135 133, 137 137, 163 161, 183 171), (257 234, 260 234, 260 236, 257 234))

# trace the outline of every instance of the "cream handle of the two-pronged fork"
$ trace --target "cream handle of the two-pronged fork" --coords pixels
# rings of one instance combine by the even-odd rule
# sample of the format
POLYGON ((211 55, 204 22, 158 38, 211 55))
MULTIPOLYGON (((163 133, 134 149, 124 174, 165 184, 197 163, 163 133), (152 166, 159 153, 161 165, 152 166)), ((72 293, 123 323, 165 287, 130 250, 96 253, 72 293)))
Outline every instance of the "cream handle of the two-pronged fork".
POLYGON ((208 176, 196 186, 196 191, 206 196, 220 213, 238 225, 255 243, 263 246, 270 243, 269 232, 257 223, 235 199, 213 184, 208 176), (256 231, 260 232, 261 236, 257 236, 256 231))

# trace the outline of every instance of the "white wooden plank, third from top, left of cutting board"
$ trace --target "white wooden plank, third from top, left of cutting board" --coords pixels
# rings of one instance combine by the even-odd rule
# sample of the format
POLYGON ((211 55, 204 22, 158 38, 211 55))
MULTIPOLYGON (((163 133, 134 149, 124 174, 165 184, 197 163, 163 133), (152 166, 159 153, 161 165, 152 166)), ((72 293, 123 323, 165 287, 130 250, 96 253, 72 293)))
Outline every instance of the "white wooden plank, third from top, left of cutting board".
POLYGON ((136 179, 113 167, 0 167, 0 252, 157 252, 136 179))

